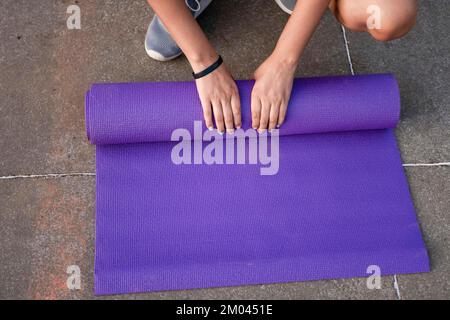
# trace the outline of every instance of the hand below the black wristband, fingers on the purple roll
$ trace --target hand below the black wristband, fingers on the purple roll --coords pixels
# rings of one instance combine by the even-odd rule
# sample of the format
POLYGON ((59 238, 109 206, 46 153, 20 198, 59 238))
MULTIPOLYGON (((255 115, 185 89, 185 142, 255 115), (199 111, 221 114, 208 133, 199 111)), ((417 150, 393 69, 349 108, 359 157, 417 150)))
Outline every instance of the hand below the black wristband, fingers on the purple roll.
POLYGON ((196 80, 197 91, 203 108, 206 127, 223 134, 233 133, 242 126, 239 91, 226 66, 196 80), (213 122, 214 119, 214 122, 213 122))

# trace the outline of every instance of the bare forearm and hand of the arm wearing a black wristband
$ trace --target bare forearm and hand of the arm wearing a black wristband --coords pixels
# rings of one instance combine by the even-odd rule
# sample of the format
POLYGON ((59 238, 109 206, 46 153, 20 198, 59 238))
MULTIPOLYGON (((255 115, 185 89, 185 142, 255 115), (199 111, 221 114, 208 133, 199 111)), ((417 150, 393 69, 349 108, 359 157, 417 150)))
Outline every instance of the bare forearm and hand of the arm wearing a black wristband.
MULTIPOLYGON (((196 73, 217 60, 218 54, 209 43, 192 12, 180 0, 148 0, 153 10, 183 51, 196 73)), ((206 126, 220 133, 241 127, 241 103, 236 82, 222 64, 207 76, 196 80, 206 126)))

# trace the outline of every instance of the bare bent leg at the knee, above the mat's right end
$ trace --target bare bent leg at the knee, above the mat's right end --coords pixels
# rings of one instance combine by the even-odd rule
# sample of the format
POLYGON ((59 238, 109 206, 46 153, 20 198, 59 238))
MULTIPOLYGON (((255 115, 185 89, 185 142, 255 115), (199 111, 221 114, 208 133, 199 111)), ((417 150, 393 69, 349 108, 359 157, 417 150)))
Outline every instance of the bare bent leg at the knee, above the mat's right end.
POLYGON ((368 32, 379 41, 401 38, 416 22, 416 0, 332 0, 336 18, 353 31, 368 32))

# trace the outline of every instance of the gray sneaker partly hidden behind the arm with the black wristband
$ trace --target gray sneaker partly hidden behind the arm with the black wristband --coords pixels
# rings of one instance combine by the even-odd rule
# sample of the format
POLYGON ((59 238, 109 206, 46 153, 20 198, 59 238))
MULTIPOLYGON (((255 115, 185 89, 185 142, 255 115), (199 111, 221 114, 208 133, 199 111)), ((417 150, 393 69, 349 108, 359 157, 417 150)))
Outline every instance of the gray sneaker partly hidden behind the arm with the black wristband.
MULTIPOLYGON (((195 18, 206 9, 211 1, 185 0, 186 5, 195 18)), ((169 61, 183 53, 156 15, 148 26, 147 35, 145 36, 145 51, 151 58, 158 61, 169 61)))

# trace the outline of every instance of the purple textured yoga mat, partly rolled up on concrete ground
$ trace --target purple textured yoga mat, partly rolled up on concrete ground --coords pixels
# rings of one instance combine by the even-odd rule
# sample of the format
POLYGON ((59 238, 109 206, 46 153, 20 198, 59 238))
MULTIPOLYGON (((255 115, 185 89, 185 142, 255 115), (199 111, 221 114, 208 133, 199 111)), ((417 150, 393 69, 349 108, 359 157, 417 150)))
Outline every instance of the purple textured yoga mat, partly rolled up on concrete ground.
MULTIPOLYGON (((243 129, 252 86, 238 81, 243 129)), ((296 79, 278 134, 244 140, 244 164, 237 141, 234 164, 206 164, 202 151, 226 159, 228 135, 202 141, 195 83, 93 85, 95 293, 429 271, 393 132, 399 114, 392 75, 296 79), (268 175, 261 154, 250 163, 255 141, 278 151, 268 175), (177 150, 192 164, 176 164, 177 150)))

